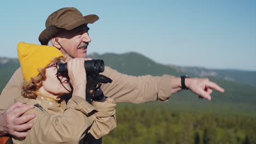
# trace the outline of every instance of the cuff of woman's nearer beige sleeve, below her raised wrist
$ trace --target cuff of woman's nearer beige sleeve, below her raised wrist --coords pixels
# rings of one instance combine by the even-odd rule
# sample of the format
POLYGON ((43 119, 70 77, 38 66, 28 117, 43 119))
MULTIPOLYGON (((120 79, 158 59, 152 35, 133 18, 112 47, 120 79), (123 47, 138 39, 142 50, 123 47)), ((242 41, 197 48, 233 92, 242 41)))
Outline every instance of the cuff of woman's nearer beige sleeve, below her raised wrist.
POLYGON ((85 115, 91 115, 94 112, 97 112, 94 106, 79 96, 74 96, 68 100, 65 110, 67 109, 75 109, 83 112, 85 115))

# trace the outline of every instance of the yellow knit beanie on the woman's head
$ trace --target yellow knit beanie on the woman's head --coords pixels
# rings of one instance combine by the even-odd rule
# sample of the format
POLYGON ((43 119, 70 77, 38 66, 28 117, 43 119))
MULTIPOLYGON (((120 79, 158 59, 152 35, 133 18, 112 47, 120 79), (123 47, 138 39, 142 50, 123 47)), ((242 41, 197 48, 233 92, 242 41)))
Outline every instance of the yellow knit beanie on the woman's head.
POLYGON ((54 46, 26 44, 21 42, 17 46, 18 58, 24 80, 30 82, 31 77, 39 74, 39 68, 45 68, 54 57, 64 57, 54 46))

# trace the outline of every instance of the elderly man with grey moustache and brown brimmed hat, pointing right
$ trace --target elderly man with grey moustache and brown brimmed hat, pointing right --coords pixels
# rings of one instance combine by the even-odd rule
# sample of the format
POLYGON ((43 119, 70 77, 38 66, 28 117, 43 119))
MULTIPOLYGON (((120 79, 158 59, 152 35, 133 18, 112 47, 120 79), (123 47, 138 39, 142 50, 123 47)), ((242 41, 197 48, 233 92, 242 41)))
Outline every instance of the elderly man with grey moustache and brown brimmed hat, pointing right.
MULTIPOLYGON (((98 20, 97 15, 83 16, 75 8, 62 8, 51 14, 45 23, 44 31, 39 35, 42 45, 55 46, 66 61, 75 57, 85 58, 88 44, 91 42, 88 23, 98 20)), ((146 103, 149 101, 165 101, 173 93, 182 89, 190 89, 200 97, 211 100, 212 89, 224 92, 224 89, 208 79, 188 78, 188 76, 129 76, 118 73, 109 67, 105 68, 103 75, 110 77, 112 83, 102 85, 102 91, 116 103, 146 103)), ((23 82, 20 68, 16 70, 0 96, 0 136, 11 134, 18 137, 27 135, 24 130, 30 129, 32 123, 26 123, 34 115, 22 116, 22 113, 33 109, 33 106, 14 104, 14 98, 20 97, 20 85, 23 82), (13 105, 13 106, 11 106, 13 105), (10 107, 9 107, 10 106, 10 107), (8 109, 9 107, 9 109, 8 109), (6 111, 5 111, 6 110, 6 111), (5 112, 4 112, 5 111, 5 112)))

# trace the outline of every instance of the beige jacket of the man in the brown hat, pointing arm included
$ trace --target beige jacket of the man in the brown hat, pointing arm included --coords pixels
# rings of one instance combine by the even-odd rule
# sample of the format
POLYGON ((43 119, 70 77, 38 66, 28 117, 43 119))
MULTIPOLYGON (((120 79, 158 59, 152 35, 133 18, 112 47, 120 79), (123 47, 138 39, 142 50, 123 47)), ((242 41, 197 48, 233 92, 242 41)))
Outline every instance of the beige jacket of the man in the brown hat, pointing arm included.
MULTIPOLYGON (((146 103, 165 101, 171 97, 172 76, 129 76, 105 67, 103 75, 110 77, 112 83, 103 84, 102 91, 115 103, 146 103)), ((21 95, 23 77, 21 69, 15 71, 0 95, 0 113, 14 104, 14 99, 21 95)))

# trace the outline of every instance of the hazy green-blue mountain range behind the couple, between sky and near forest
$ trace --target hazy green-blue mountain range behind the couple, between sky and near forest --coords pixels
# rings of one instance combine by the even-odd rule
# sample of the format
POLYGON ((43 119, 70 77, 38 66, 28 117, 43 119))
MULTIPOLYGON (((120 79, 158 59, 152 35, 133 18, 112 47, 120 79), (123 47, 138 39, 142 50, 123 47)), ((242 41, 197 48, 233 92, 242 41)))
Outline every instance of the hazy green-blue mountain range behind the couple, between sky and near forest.
MULTIPOLYGON (((211 101, 198 100, 195 94, 183 91, 174 94, 170 101, 161 106, 171 107, 170 109, 178 109, 177 107, 185 109, 183 105, 186 105, 188 110, 201 110, 203 106, 204 110, 218 112, 229 110, 229 112, 240 111, 241 113, 251 112, 254 113, 253 115, 256 114, 256 71, 217 70, 164 65, 156 63, 136 52, 120 55, 115 53, 104 53, 103 55, 91 53, 88 57, 103 59, 105 65, 123 74, 134 76, 161 76, 164 74, 180 76, 190 74, 193 77, 208 77, 211 81, 225 88, 224 94, 214 92, 211 101)), ((18 67, 18 59, 0 57, 0 92, 18 67)), ((159 107, 159 105, 154 105, 154 103, 150 103, 150 107, 152 107, 152 104, 154 107, 159 107)))

